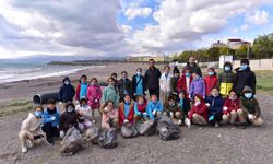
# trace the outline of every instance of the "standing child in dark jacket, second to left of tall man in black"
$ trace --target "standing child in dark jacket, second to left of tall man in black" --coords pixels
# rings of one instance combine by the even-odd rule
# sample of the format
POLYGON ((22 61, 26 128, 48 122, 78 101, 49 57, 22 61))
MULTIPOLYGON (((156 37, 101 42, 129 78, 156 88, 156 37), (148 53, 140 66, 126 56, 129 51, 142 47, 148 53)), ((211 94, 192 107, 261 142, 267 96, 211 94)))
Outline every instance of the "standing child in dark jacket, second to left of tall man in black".
POLYGON ((122 71, 121 77, 122 78, 118 82, 120 102, 124 99, 124 95, 127 94, 132 97, 132 82, 128 79, 127 71, 122 71))

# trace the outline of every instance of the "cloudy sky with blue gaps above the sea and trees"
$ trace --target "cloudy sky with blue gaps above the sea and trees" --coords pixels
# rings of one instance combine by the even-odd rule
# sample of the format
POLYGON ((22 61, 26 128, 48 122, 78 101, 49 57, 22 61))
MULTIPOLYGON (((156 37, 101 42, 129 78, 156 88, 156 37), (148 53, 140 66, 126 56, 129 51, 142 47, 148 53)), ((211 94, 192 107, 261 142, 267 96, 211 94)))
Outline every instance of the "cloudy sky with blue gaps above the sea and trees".
POLYGON ((169 55, 269 33, 272 0, 0 1, 0 59, 169 55))

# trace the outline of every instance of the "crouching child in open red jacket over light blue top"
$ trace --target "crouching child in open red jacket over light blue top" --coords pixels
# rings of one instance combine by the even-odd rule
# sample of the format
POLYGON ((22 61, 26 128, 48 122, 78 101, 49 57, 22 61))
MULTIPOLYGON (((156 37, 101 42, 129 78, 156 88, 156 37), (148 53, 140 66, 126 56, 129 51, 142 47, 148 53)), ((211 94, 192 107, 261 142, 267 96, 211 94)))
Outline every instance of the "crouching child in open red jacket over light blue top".
POLYGON ((133 124, 133 105, 134 103, 131 101, 129 94, 124 96, 124 102, 119 103, 119 126, 121 127, 123 124, 131 122, 133 124))

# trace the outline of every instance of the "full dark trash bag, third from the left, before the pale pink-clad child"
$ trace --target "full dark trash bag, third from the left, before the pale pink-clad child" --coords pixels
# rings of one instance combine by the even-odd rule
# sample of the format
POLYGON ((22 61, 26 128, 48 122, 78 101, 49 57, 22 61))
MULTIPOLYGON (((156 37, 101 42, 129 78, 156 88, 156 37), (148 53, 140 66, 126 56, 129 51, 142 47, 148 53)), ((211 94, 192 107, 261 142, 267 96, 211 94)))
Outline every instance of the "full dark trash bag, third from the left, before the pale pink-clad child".
POLYGON ((98 144, 102 148, 116 148, 118 145, 117 138, 115 128, 105 129, 98 138, 98 144))

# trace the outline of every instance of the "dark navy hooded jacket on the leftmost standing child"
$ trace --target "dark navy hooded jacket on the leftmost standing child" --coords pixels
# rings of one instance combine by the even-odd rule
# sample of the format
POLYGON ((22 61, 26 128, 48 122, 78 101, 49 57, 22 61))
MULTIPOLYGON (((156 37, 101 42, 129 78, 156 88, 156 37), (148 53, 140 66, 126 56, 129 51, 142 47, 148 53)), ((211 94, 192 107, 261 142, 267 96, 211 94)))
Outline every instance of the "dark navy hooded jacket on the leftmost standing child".
POLYGON ((72 86, 71 84, 66 85, 64 84, 66 80, 70 81, 70 79, 66 77, 62 81, 63 85, 60 87, 60 91, 59 91, 59 99, 62 103, 72 102, 75 95, 74 86, 72 86))

